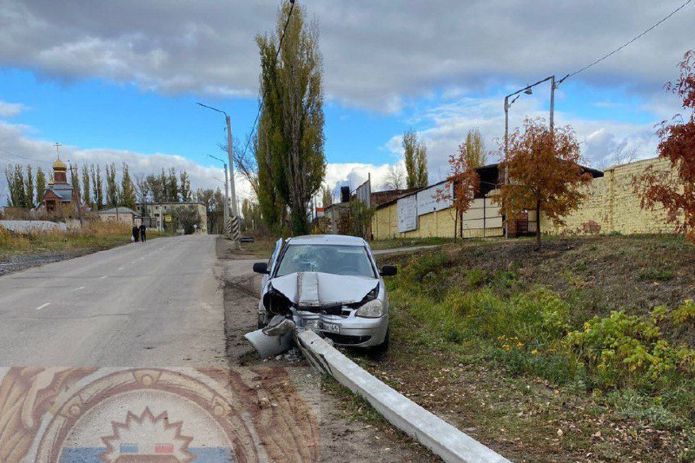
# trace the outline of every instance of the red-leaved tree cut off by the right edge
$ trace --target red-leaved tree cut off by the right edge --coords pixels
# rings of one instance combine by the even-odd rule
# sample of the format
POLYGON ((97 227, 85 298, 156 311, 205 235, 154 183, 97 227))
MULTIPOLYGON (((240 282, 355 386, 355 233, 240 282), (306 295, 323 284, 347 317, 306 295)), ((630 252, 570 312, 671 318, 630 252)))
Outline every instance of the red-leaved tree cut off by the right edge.
POLYGON ((650 165, 633 177, 633 188, 642 198, 642 207, 655 209, 660 204, 667 221, 679 233, 695 242, 695 51, 689 50, 679 65, 677 82, 666 84, 666 90, 682 100, 689 114, 677 114, 663 121, 657 130, 661 139, 659 159, 667 160, 670 169, 657 170, 650 165))

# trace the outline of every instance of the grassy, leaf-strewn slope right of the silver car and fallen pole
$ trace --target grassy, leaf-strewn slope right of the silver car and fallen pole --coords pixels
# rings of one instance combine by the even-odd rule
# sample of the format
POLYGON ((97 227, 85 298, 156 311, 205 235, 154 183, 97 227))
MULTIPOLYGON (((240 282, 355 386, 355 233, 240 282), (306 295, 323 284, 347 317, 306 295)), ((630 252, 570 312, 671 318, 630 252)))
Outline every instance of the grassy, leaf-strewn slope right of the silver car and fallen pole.
POLYGON ((387 257, 392 348, 362 365, 513 461, 694 461, 695 304, 678 295, 695 251, 669 235, 546 244, 387 257))

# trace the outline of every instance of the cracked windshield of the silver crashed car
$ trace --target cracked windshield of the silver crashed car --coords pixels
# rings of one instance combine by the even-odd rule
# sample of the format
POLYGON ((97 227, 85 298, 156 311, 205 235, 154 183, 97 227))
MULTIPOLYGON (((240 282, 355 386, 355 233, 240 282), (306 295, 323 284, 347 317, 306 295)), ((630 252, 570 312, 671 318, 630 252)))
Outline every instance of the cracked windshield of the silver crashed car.
POLYGON ((296 272, 323 272, 374 278, 367 250, 362 246, 289 245, 276 277, 296 272))

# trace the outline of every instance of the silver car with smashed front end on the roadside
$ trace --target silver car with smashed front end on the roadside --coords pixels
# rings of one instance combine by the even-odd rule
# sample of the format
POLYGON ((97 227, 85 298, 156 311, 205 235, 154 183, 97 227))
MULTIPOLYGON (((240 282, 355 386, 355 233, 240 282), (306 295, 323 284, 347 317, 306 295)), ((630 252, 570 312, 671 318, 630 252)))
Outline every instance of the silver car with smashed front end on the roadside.
POLYGON ((385 350, 389 299, 382 277, 396 267, 377 262, 362 238, 307 235, 278 240, 268 262, 253 265, 264 275, 258 325, 274 316, 291 318, 336 345, 385 350))

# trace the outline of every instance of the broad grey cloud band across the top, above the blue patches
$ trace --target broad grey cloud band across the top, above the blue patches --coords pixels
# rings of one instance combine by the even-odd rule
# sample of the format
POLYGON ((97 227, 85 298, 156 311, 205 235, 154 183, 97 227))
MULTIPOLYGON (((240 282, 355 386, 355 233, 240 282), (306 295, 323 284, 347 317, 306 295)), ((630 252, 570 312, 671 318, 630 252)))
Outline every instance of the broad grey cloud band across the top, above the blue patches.
MULTIPOLYGON (((257 33, 279 1, 4 0, 0 66, 104 77, 164 93, 253 95, 257 33)), ((413 97, 534 82, 583 67, 672 11, 673 1, 316 0, 326 93, 399 111, 413 97)), ((695 6, 574 79, 660 91, 695 42, 695 6)))

